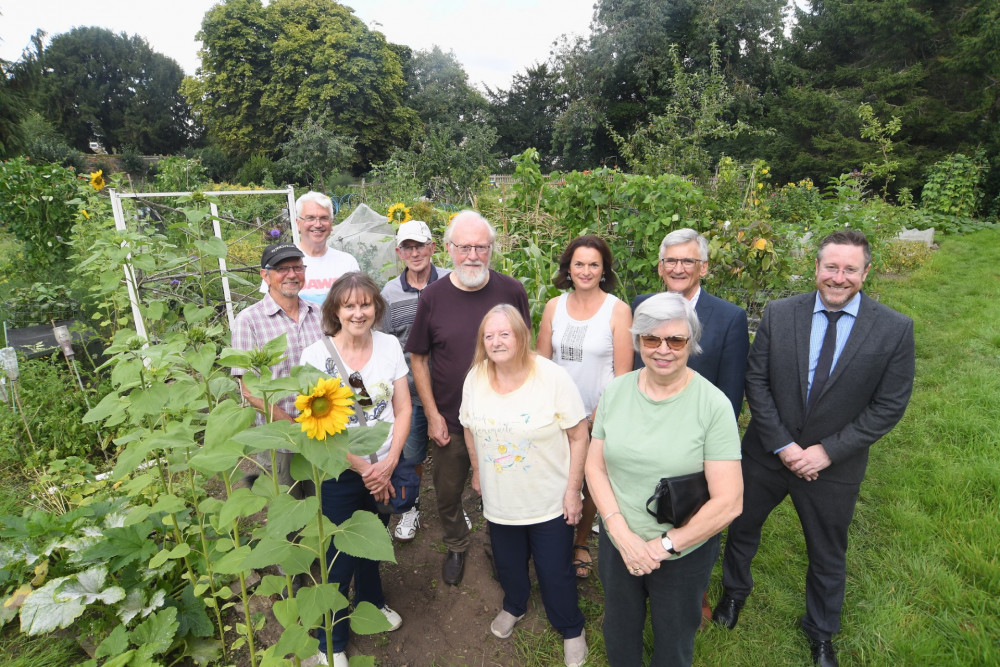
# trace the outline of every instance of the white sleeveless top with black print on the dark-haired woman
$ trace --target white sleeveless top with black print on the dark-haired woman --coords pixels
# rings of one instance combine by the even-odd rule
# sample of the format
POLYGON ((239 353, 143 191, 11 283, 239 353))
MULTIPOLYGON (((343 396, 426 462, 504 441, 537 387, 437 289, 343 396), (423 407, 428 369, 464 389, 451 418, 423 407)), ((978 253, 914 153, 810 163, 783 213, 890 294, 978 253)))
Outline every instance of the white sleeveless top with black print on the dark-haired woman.
POLYGON ((556 302, 552 318, 552 360, 565 368, 580 390, 583 409, 589 415, 597 407, 604 388, 615 379, 614 334, 611 314, 618 297, 608 294, 589 320, 575 320, 566 309, 568 294, 556 302))

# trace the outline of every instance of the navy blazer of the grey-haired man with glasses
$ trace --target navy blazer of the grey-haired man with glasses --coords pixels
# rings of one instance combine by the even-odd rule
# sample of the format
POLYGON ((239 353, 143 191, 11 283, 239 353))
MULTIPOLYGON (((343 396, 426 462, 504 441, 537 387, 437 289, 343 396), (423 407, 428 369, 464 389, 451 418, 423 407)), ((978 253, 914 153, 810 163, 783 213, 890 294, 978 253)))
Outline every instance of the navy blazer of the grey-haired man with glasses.
MULTIPOLYGON (((640 294, 632 301, 632 313, 640 303, 653 296, 640 294)), ((746 311, 724 299, 701 290, 694 312, 701 322, 701 354, 688 359, 688 368, 722 390, 737 417, 743 408, 743 385, 746 376, 750 334, 746 311)), ((635 353, 633 368, 645 364, 635 353)))

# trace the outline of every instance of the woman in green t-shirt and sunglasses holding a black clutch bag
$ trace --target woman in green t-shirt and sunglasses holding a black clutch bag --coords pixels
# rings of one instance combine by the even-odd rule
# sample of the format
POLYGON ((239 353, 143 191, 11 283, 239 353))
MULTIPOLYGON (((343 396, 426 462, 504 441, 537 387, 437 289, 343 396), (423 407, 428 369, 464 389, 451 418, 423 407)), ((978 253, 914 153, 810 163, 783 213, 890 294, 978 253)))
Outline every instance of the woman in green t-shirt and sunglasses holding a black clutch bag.
POLYGON ((742 509, 740 440, 732 405, 687 366, 701 325, 680 294, 657 294, 635 311, 633 344, 645 368, 604 390, 587 456, 604 530, 604 643, 612 667, 642 664, 649 599, 652 665, 690 665, 701 599, 719 554, 719 532, 742 509), (680 526, 657 523, 646 501, 663 477, 704 471, 710 498, 680 526))

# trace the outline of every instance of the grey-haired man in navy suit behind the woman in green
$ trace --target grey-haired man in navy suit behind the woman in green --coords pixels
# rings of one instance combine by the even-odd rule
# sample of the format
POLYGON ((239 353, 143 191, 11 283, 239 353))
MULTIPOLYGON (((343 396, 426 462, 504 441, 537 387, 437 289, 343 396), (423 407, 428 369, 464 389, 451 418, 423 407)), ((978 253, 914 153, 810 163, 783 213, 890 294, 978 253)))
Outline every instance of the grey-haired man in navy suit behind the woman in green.
MULTIPOLYGON (((712 296, 701 288, 701 279, 708 273, 708 241, 693 229, 670 232, 660 244, 660 261, 656 271, 668 292, 678 292, 692 302, 701 322, 702 333, 698 344, 702 352, 688 360, 688 367, 721 389, 739 417, 743 407, 747 352, 750 350, 747 314, 739 306, 712 296)), ((632 312, 651 296, 637 296, 632 301, 632 312)), ((633 367, 643 367, 638 353, 633 367)))

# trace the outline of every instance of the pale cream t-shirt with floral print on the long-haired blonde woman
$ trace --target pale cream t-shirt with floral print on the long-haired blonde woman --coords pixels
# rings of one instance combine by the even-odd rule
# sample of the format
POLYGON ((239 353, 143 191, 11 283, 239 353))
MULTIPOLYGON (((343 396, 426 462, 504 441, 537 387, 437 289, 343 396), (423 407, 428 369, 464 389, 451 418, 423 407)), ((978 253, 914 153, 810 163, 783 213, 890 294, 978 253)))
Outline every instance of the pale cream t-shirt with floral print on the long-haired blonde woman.
POLYGON ((483 515, 526 525, 562 516, 569 483, 566 429, 586 413, 565 370, 535 357, 534 371, 509 394, 490 386, 483 366, 469 371, 459 421, 472 432, 483 491, 483 515))

